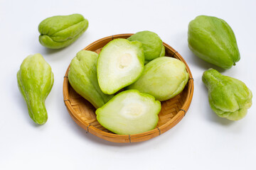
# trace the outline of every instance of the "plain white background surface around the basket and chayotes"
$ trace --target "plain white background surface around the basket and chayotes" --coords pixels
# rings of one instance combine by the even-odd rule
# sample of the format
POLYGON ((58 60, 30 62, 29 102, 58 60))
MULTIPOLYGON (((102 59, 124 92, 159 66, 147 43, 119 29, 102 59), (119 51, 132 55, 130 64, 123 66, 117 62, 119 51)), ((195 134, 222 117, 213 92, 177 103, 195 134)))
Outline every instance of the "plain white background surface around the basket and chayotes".
POLYGON ((237 122, 210 110, 203 72, 217 68, 188 49, 188 23, 198 15, 223 18, 233 28, 241 60, 220 70, 256 93, 256 1, 14 1, 0 0, 0 169, 256 169, 255 98, 237 122), (38 24, 55 15, 81 13, 87 31, 72 45, 48 50, 38 42, 38 24), (116 144, 86 134, 63 103, 63 76, 75 54, 91 42, 151 30, 188 63, 195 91, 186 117, 146 142, 116 144), (35 125, 16 82, 23 59, 41 53, 55 82, 46 99, 48 122, 35 125))

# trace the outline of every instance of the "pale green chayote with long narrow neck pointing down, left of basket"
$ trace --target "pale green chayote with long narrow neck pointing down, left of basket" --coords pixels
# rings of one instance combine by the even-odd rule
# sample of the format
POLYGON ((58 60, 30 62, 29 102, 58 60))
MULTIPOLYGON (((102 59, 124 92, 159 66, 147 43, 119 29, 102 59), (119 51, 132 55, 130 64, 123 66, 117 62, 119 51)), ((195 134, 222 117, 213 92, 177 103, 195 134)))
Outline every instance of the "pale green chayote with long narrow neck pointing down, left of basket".
POLYGON ((43 125, 48 119, 45 101, 53 87, 53 72, 41 54, 29 55, 17 73, 18 89, 26 101, 31 119, 43 125))

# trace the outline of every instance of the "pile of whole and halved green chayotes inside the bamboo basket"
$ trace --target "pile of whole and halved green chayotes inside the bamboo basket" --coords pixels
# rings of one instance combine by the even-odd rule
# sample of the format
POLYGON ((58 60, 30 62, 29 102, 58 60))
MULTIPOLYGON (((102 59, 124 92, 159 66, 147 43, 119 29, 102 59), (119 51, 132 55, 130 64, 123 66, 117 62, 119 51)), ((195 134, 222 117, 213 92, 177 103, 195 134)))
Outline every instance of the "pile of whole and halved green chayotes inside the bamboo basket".
POLYGON ((121 135, 152 130, 159 120, 160 101, 179 94, 188 82, 186 65, 164 57, 163 49, 161 38, 150 31, 114 39, 99 55, 78 52, 68 81, 97 108, 97 120, 108 130, 121 135))

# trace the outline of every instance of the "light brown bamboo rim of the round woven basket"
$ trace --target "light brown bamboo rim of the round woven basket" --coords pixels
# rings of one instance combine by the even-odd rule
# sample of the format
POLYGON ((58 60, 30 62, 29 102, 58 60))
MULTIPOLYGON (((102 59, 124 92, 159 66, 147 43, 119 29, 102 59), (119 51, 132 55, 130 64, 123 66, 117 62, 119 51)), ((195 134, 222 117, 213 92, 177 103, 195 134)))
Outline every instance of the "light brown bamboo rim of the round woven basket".
MULTIPOLYGON (((114 40, 116 38, 129 37, 131 35, 133 35, 133 34, 132 33, 127 33, 127 34, 110 35, 110 36, 107 36, 105 38, 100 38, 99 40, 96 40, 95 42, 92 42, 90 45, 87 45, 87 47, 83 48, 82 50, 88 50, 91 47, 93 47, 94 45, 97 45, 98 42, 102 42, 103 40, 109 40, 109 39, 114 40)), ((69 101, 69 96, 68 96, 68 72, 69 72, 69 69, 70 69, 70 64, 69 64, 68 69, 65 72, 64 81, 63 81, 63 100, 64 100, 64 103, 65 103, 65 106, 68 108, 68 111, 69 111, 71 117, 75 120, 75 122, 78 123, 78 125, 80 125, 85 130, 87 130, 87 132, 89 132, 89 131, 92 132, 92 130, 93 130, 96 133, 99 133, 100 135, 103 135, 105 137, 110 137, 110 138, 111 137, 114 137, 114 138, 120 138, 120 137, 123 138, 124 137, 129 142, 131 142, 131 140, 133 138, 137 138, 137 137, 144 137, 144 136, 147 136, 147 135, 154 135, 154 134, 161 135, 162 133, 166 132, 170 128, 174 127, 180 121, 179 119, 182 119, 186 115, 186 112, 188 111, 188 108, 191 104, 191 100, 193 98, 193 76, 191 74, 191 70, 188 67, 188 64, 183 59, 183 57, 181 57, 181 55, 176 50, 174 50, 173 47, 166 44, 166 42, 163 42, 163 45, 164 45, 164 47, 168 47, 169 50, 171 50, 171 52, 174 52, 174 54, 172 56, 169 56, 169 57, 176 57, 176 58, 178 58, 178 60, 181 60, 186 65, 186 70, 188 72, 188 95, 186 96, 186 99, 185 99, 185 101, 183 103, 183 106, 181 107, 180 111, 178 111, 178 113, 176 113, 176 115, 174 115, 174 117, 171 118, 171 120, 164 123, 164 125, 161 125, 157 128, 154 128, 153 130, 149 130, 147 132, 142 132, 142 133, 138 133, 138 134, 134 134, 134 135, 117 135, 117 134, 114 134, 114 133, 105 132, 105 131, 99 130, 98 128, 95 128, 93 125, 90 125, 89 123, 86 123, 84 120, 82 120, 82 118, 80 118, 78 116, 78 114, 75 113, 74 108, 71 106, 71 103, 69 101), (178 122, 171 127, 171 124, 176 122, 177 120, 178 120, 178 122), (167 128, 167 130, 165 130, 166 128, 167 128), (163 130, 163 131, 161 131, 161 130, 163 130)), ((93 135, 95 135, 95 134, 93 134, 93 135)))

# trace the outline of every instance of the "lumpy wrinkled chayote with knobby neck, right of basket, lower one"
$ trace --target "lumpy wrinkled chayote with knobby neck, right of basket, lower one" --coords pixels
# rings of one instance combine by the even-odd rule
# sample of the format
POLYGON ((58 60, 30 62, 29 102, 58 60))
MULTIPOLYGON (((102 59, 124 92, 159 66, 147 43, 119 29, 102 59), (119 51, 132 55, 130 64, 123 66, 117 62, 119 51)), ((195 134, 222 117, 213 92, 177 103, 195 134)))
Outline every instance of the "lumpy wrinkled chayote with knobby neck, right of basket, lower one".
POLYGON ((224 76, 215 69, 203 73, 210 108, 221 118, 240 120, 252 106, 252 92, 240 80, 224 76))

